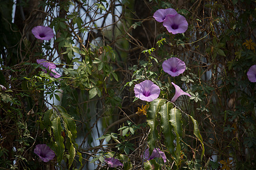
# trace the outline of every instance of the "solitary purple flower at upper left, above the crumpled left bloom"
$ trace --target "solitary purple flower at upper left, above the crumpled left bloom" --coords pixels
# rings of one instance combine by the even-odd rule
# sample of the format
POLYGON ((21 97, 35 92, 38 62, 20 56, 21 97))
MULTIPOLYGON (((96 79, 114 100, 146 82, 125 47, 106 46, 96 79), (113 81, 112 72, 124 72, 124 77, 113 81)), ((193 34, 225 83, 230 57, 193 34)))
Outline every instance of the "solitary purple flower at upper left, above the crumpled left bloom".
POLYGON ((54 37, 53 30, 50 27, 36 26, 31 31, 36 39, 51 40, 54 37))

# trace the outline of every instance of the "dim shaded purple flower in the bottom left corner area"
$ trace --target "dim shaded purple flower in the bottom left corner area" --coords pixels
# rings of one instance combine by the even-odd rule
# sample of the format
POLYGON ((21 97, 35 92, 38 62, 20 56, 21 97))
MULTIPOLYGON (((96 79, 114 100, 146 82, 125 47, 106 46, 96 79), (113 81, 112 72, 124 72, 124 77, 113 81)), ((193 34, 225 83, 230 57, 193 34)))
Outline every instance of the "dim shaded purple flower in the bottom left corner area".
POLYGON ((34 153, 39 156, 43 162, 49 162, 55 157, 55 153, 47 145, 36 145, 34 153))

